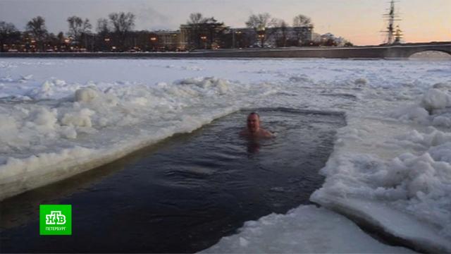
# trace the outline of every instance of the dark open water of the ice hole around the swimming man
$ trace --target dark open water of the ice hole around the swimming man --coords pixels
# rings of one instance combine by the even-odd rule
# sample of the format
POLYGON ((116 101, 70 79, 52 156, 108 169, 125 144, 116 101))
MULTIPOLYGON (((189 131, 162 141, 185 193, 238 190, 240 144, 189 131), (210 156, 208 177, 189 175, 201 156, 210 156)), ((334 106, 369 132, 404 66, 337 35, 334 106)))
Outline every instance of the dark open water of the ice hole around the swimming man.
POLYGON ((0 252, 191 253, 243 222, 309 204, 338 114, 261 109, 269 140, 239 137, 249 111, 1 202, 0 252), (72 236, 39 236, 39 204, 72 205, 72 236))

